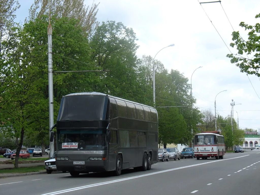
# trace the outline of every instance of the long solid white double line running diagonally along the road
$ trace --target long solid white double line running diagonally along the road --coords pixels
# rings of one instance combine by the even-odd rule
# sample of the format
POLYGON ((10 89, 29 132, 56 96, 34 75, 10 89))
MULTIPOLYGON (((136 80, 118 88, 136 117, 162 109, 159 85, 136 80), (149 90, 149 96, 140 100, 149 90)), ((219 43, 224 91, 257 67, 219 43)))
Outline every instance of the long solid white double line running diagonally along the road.
POLYGON ((90 185, 85 185, 85 186, 80 186, 80 187, 74 187, 74 188, 70 188, 70 189, 66 189, 66 190, 60 190, 60 191, 50 192, 50 193, 41 194, 41 195, 55 195, 55 194, 61 194, 61 193, 65 193, 65 192, 75 191, 75 190, 82 190, 82 189, 86 189, 86 188, 90 188, 90 187, 96 187, 96 186, 116 183, 116 182, 120 182, 120 181, 126 181, 126 180, 130 180, 130 179, 135 179, 135 178, 139 178, 139 177, 145 177, 145 176, 150 176, 150 175, 154 175, 154 174, 159 174, 159 173, 179 170, 179 169, 183 169, 183 168, 194 167, 194 166, 209 164, 209 163, 213 163, 213 162, 223 161, 223 160, 231 160, 231 159, 236 159, 236 158, 242 158, 242 157, 246 157, 246 156, 249 156, 249 155, 250 154, 244 155, 244 156, 240 156, 240 157, 226 158, 226 159, 221 159, 221 160, 214 160, 214 161, 204 162, 204 163, 200 163, 200 164, 189 165, 189 166, 185 166, 185 167, 172 168, 172 169, 168 169, 168 170, 163 170, 163 171, 143 174, 143 175, 140 175, 140 176, 133 176, 133 177, 128 177, 128 178, 124 178, 124 179, 116 179, 116 180, 102 182, 102 183, 96 183, 96 184, 90 184, 90 185))

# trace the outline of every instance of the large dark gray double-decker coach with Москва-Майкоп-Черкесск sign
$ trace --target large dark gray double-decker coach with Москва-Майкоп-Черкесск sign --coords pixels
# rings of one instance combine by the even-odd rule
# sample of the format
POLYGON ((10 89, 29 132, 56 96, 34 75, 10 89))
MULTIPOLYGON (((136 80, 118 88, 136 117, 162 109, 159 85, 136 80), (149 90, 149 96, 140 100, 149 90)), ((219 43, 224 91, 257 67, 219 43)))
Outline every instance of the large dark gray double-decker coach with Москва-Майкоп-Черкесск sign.
POLYGON ((57 118, 58 171, 150 170, 158 161, 156 109, 90 92, 62 97, 57 118))

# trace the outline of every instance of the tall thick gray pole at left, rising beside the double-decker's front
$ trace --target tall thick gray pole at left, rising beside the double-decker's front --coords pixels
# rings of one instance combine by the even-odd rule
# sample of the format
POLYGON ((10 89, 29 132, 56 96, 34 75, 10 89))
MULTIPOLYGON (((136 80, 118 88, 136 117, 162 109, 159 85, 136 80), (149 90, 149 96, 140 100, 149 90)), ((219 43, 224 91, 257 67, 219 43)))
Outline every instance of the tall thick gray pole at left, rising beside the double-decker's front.
MULTIPOLYGON (((53 65, 52 65, 52 27, 50 24, 50 0, 49 3, 49 25, 47 28, 48 34, 48 89, 49 89, 49 130, 53 126, 53 65)), ((51 132, 49 131, 49 137, 51 132)), ((50 142, 50 154, 52 157, 54 153, 54 140, 50 142)))

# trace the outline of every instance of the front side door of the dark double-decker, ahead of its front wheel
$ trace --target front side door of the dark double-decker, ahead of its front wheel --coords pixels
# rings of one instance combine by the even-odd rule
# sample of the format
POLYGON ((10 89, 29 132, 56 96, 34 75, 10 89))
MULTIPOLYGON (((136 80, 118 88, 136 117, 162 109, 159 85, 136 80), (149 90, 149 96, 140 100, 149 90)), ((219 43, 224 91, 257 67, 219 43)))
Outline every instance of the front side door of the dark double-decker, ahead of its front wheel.
POLYGON ((108 152, 108 171, 115 170, 115 161, 116 155, 118 152, 118 140, 117 140, 117 131, 110 131, 110 143, 109 143, 109 152, 108 152))

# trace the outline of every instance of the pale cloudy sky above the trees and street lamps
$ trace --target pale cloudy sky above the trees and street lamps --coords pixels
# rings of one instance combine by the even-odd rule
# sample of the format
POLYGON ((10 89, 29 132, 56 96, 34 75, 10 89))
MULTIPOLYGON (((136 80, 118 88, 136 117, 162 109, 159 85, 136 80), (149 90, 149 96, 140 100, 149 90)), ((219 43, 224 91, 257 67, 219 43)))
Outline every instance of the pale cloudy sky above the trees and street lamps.
MULTIPOLYGON (((16 12, 16 21, 23 22, 25 17, 28 17, 29 8, 34 1, 18 0, 18 2, 21 7, 16 12)), ((91 5, 92 2, 84 0, 86 5, 91 5)), ((247 76, 246 73, 241 73, 240 69, 231 64, 230 59, 226 57, 230 51, 233 54, 237 53, 235 48, 229 46, 232 42, 233 29, 239 31, 246 39, 248 32, 239 27, 239 23, 242 21, 251 25, 259 23, 259 19, 256 20, 255 16, 260 13, 260 1, 222 0, 221 4, 201 5, 199 2, 209 1, 95 1, 98 2, 100 4, 97 20, 100 23, 112 20, 133 28, 138 38, 136 43, 139 48, 136 55, 139 58, 142 55, 154 57, 160 49, 174 44, 173 47, 161 50, 156 60, 161 61, 168 71, 178 70, 189 79, 189 82, 192 76, 192 95, 197 100, 195 106, 199 110, 210 109, 215 114, 216 98, 217 113, 226 117, 231 112, 230 103, 233 99, 235 102, 233 115, 236 121, 238 118, 239 128, 255 130, 260 128, 258 97, 260 79, 255 75, 247 76), (200 66, 202 68, 198 68, 200 66), (197 70, 194 72, 195 69, 197 70), (223 90, 227 91, 221 92, 223 90)))

